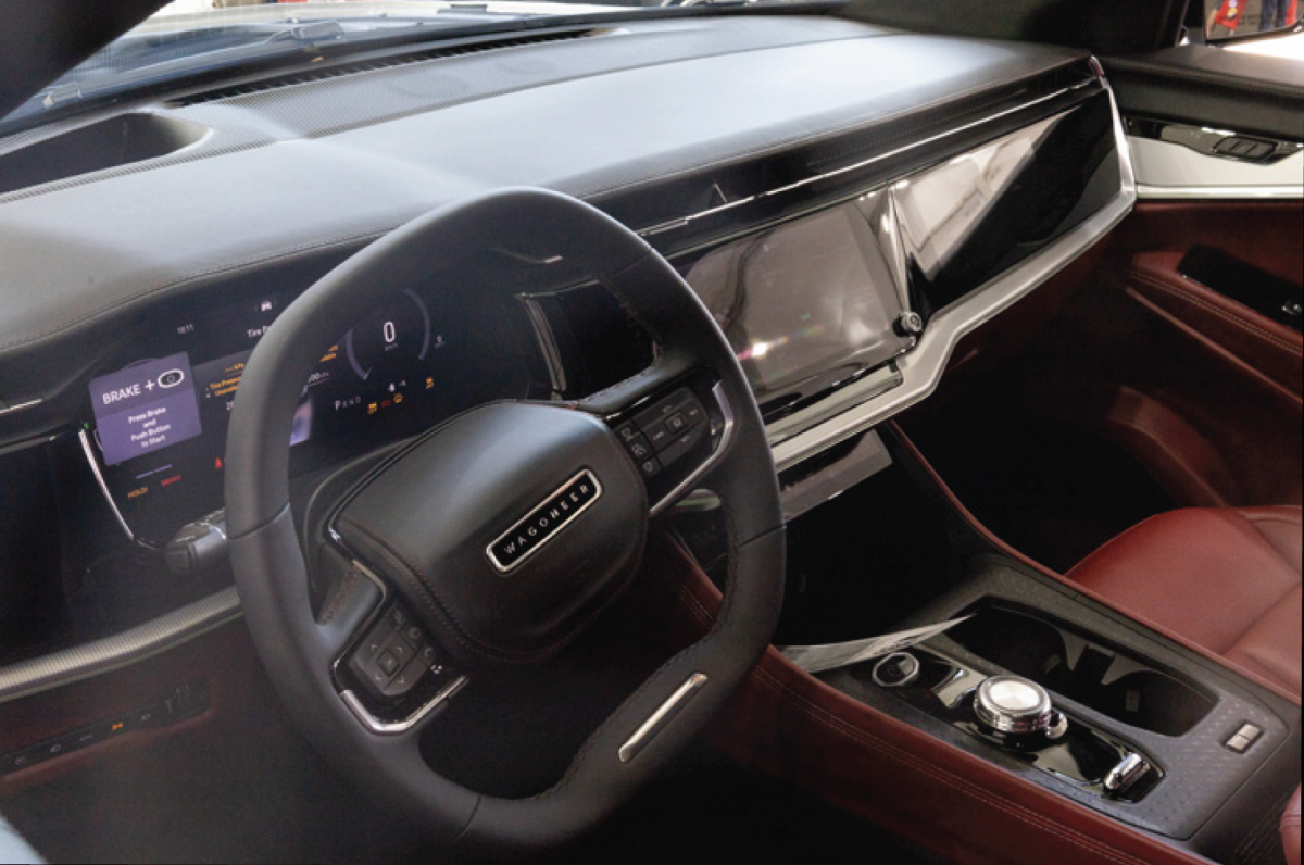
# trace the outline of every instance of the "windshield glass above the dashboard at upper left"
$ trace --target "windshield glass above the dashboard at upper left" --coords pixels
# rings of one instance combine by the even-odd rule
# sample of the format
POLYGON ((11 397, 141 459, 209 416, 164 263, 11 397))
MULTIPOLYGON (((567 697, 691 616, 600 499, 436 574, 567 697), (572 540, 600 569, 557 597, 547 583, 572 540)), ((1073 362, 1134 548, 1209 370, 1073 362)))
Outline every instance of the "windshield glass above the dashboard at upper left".
POLYGON ((29 99, 4 125, 216 72, 259 72, 436 37, 539 26, 540 20, 793 1, 801 0, 173 0, 29 99))

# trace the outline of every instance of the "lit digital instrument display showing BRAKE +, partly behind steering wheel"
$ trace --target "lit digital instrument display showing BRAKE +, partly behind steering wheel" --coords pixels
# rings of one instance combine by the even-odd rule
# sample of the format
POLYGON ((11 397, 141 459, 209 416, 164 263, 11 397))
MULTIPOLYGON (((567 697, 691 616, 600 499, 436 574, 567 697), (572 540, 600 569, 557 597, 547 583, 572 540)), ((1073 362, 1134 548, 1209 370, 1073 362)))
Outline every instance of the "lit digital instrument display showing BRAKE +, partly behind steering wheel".
MULTIPOLYGON (((133 534, 162 541, 222 506, 240 378, 291 299, 270 294, 168 313, 151 329, 147 355, 91 378, 85 429, 133 534)), ((415 434, 475 399, 464 309, 456 292, 406 291, 325 346, 295 410, 292 472, 415 434)), ((475 355, 482 368, 493 364, 492 355, 475 355)))

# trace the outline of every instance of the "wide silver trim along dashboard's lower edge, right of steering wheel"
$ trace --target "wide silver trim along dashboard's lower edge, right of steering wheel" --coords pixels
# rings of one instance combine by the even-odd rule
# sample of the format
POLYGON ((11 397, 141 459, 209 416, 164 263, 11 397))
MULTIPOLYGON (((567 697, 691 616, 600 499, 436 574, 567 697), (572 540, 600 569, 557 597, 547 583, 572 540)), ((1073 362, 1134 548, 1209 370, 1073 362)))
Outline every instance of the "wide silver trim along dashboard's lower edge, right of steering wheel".
POLYGON ((775 445, 772 453, 776 470, 789 468, 928 397, 936 389, 947 360, 961 337, 991 321, 1054 277, 1132 213, 1137 198, 1136 175, 1118 102, 1107 85, 1106 93, 1110 94, 1114 108, 1114 136, 1123 179, 1119 194, 1068 234, 934 316, 915 350, 897 360, 902 374, 900 386, 775 445))

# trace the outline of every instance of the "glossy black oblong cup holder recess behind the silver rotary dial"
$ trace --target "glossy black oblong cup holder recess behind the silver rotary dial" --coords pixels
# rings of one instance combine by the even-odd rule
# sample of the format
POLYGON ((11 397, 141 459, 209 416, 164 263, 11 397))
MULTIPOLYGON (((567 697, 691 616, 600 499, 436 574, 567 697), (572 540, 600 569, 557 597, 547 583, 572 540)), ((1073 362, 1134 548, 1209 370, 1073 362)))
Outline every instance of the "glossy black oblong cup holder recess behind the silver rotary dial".
POLYGON ((1215 699, 1189 678, 1034 611, 983 601, 949 631, 966 651, 1125 724, 1181 736, 1215 699))

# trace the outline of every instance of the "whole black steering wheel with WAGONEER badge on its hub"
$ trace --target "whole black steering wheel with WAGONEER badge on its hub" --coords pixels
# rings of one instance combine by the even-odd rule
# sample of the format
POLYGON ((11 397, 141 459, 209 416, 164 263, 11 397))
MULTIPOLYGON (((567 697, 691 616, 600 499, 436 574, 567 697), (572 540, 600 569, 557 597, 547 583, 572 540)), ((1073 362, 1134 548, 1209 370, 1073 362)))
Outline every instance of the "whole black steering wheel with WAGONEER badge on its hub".
POLYGON ((226 454, 245 621, 292 716, 343 772, 479 848, 549 847, 596 825, 702 729, 777 621, 778 491, 733 351, 656 250, 559 193, 509 189, 441 207, 323 277, 249 357, 226 454), (314 502, 330 502, 319 526, 297 521, 288 442, 322 347, 438 266, 486 252, 559 256, 602 283, 652 335, 652 365, 579 402, 463 412, 318 488, 314 502), (660 450, 657 434, 670 436, 660 450), (640 442, 657 462, 638 459, 640 442), (459 689, 572 641, 636 573, 649 521, 703 487, 722 502, 730 552, 709 633, 647 678, 541 795, 481 795, 429 768, 421 735, 459 689), (319 601, 312 587, 326 583, 336 588, 319 601), (403 646, 416 660, 399 658, 396 671, 403 646))

